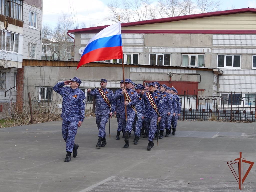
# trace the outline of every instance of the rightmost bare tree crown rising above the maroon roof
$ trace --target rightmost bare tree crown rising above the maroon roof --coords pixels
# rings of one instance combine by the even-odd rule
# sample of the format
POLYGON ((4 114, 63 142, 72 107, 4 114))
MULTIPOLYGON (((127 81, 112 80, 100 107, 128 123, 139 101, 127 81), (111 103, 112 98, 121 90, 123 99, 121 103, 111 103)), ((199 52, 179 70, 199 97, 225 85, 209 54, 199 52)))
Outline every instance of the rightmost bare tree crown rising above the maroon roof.
POLYGON ((218 11, 221 5, 220 1, 216 0, 197 0, 196 3, 201 13, 218 11))

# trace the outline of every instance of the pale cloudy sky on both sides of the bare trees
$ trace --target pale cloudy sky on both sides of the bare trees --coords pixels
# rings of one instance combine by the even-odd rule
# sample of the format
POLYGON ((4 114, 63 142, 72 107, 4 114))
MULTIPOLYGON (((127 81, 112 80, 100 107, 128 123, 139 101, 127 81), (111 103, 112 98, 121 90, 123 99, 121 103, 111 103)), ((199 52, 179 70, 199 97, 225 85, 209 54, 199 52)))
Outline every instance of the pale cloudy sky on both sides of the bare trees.
MULTIPOLYGON (((84 22, 86 27, 111 25, 113 22, 105 21, 105 15, 109 14, 106 4, 111 0, 44 0, 43 1, 43 25, 56 26, 62 13, 73 18, 74 25, 84 22), (60 3, 61 2, 61 3, 60 3)), ((156 0, 152 0, 156 2, 156 0)), ((223 0, 221 10, 231 8, 256 8, 256 0, 223 0)), ((82 28, 82 27, 80 27, 82 28)), ((73 29, 73 28, 72 28, 73 29)))

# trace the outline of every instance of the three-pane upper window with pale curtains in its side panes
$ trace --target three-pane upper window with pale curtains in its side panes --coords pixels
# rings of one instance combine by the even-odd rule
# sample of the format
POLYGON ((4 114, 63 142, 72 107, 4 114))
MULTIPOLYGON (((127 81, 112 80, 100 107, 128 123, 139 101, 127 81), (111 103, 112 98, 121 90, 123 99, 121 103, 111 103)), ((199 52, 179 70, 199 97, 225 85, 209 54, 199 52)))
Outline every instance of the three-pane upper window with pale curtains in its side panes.
POLYGON ((183 67, 204 67, 205 55, 182 55, 183 67))

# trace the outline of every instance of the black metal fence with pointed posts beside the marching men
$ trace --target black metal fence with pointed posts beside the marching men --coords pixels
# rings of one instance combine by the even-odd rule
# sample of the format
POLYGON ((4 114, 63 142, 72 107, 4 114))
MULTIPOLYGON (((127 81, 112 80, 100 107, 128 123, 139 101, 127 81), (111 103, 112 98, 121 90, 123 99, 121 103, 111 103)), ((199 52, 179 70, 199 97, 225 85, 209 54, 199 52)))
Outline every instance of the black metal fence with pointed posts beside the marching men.
POLYGON ((179 120, 255 121, 256 93, 219 93, 214 96, 191 95, 182 91, 182 112, 179 120), (246 97, 242 97, 246 96, 246 97))

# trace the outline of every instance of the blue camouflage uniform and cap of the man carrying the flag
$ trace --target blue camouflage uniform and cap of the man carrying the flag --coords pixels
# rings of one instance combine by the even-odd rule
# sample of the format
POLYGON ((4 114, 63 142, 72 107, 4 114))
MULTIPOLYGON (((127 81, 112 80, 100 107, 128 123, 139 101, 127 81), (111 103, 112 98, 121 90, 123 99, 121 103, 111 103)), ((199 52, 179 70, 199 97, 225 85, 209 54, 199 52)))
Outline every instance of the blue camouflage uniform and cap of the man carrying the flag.
MULTIPOLYGON (((131 83, 130 79, 125 79, 125 82, 131 83)), ((131 102, 129 102, 129 105, 126 106, 127 110, 127 122, 126 122, 126 116, 125 116, 125 105, 124 105, 124 94, 122 92, 118 92, 115 94, 115 99, 120 99, 120 119, 118 124, 118 131, 124 131, 124 133, 132 132, 132 124, 135 120, 135 111, 132 109, 131 105, 136 105, 139 102, 139 97, 136 91, 133 91, 131 89, 126 89, 126 93, 131 98, 131 102)))

